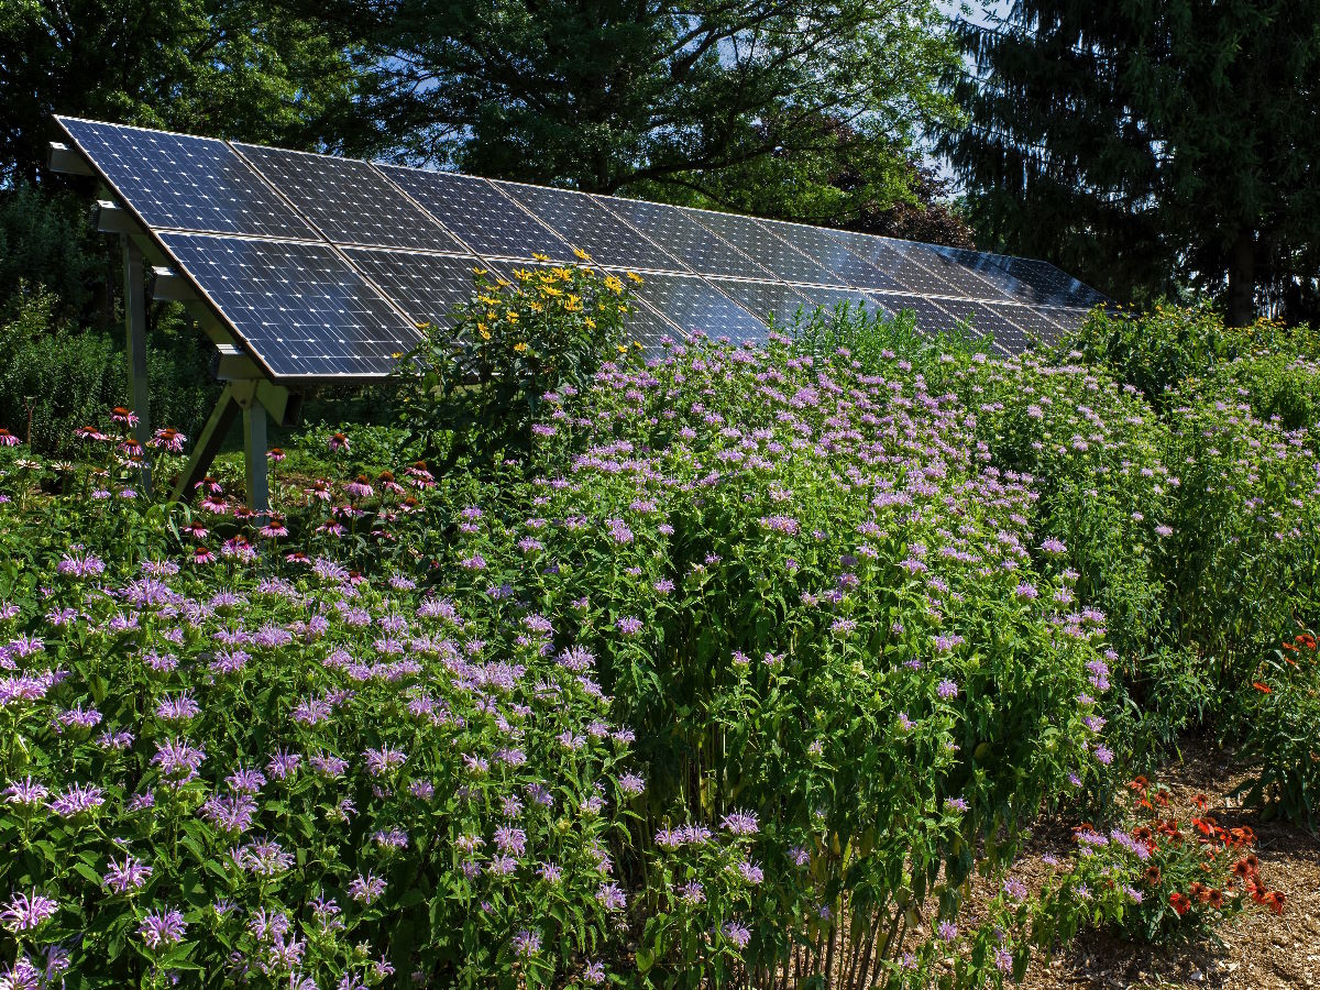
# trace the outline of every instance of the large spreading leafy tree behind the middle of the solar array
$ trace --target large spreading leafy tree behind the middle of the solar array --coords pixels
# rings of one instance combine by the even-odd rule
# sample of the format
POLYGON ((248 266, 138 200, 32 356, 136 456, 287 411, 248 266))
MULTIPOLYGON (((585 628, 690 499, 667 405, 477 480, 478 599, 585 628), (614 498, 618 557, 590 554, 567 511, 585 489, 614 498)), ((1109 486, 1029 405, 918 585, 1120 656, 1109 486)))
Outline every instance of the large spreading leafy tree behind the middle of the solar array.
MULTIPOLYGON (((375 13, 412 152, 478 174, 718 198, 722 177, 755 181, 776 154, 789 170, 832 160, 840 123, 853 147, 902 162, 950 119, 933 0, 360 4, 339 17, 375 13)), ((800 199, 821 191, 809 169, 796 176, 800 199)))

